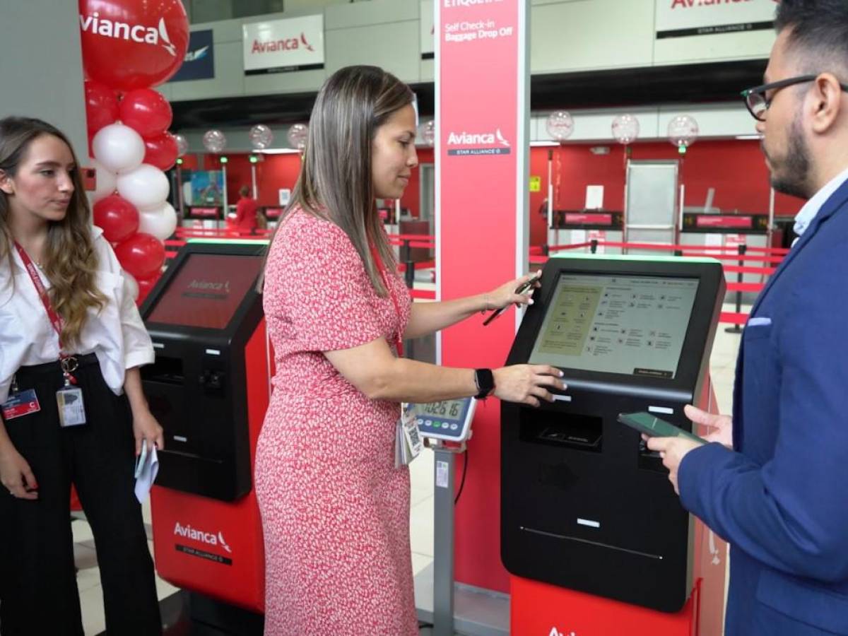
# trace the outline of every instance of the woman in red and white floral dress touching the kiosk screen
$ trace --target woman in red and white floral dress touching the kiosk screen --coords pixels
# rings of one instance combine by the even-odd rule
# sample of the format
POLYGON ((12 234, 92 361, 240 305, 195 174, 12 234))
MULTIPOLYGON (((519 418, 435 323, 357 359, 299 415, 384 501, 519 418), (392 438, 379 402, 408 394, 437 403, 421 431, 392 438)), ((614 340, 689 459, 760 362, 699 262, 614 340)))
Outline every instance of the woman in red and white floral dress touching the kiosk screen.
MULTIPOLYGON (((275 391, 259 436, 265 633, 418 633, 410 476, 394 466, 400 402, 478 395, 472 369, 407 360, 417 338, 480 310, 527 303, 527 276, 488 294, 411 304, 377 215, 416 158, 410 88, 373 66, 338 70, 310 118, 304 165, 271 245, 265 317, 275 391)), ((500 399, 562 388, 546 365, 495 369, 500 399)))

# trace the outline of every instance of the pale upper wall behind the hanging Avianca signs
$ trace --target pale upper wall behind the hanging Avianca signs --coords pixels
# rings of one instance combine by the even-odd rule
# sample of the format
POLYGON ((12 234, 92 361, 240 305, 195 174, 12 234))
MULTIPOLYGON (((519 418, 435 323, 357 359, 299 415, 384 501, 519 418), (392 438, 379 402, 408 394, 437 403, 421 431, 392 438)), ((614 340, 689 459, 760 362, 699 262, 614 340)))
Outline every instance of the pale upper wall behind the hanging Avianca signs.
MULTIPOLYGON (((544 75, 768 57, 773 31, 657 40, 656 3, 668 1, 532 0, 531 72, 544 75)), ((377 64, 411 84, 432 81, 432 60, 421 59, 421 14, 432 11, 432 3, 371 0, 316 7, 298 2, 287 3, 282 14, 194 24, 192 30, 213 30, 215 79, 165 84, 160 90, 174 101, 315 92, 327 76, 348 64, 377 64), (321 13, 326 30, 323 70, 244 75, 243 24, 321 13)))

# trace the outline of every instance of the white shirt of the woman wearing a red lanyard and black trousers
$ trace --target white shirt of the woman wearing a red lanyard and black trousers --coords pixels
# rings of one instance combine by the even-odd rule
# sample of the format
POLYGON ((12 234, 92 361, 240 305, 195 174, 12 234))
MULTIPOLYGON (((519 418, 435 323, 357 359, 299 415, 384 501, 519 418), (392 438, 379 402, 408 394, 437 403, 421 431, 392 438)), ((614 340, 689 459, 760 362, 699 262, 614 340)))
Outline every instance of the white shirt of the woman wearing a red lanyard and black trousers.
MULTIPOLYGON (((127 287, 126 276, 99 227, 92 228, 92 243, 98 255, 96 283, 107 304, 99 313, 88 310, 73 353, 96 354, 103 380, 120 395, 126 369, 153 362, 153 343, 127 287)), ((0 263, 0 403, 6 401, 12 377, 21 366, 59 360, 59 334, 47 318, 47 310, 18 251, 14 246, 9 249, 15 265, 14 293, 8 260, 0 263)), ((39 273, 49 289, 47 277, 39 273)))

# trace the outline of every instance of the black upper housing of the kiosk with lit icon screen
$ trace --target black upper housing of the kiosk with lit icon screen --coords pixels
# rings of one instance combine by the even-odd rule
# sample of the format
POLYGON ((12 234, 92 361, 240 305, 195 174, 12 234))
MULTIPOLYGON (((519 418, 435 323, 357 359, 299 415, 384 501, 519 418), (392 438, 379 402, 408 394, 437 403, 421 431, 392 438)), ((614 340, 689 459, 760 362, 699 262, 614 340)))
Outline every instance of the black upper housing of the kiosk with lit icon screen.
POLYGON ((680 610, 694 518, 659 457, 618 421, 645 411, 691 432, 725 283, 715 260, 553 258, 508 365, 554 365, 567 388, 501 406, 501 554, 518 577, 680 610))

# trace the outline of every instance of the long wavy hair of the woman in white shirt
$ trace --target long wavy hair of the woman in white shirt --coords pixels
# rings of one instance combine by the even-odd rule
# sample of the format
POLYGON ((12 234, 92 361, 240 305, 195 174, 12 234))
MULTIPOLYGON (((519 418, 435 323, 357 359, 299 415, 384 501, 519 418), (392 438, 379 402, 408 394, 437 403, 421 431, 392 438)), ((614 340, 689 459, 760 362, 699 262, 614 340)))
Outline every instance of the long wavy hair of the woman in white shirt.
MULTIPOLYGON (((92 213, 82 185, 79 162, 68 138, 55 126, 29 117, 6 117, 0 120, 0 171, 14 178, 31 143, 44 135, 64 142, 75 165, 70 173, 74 192, 68 211, 62 220, 47 221, 47 241, 42 254, 43 271, 51 283, 48 295, 53 309, 64 320, 61 340, 68 349, 79 343, 88 310, 102 310, 107 303, 106 296, 97 287, 98 256, 92 243, 92 213)), ((14 237, 9 215, 9 196, 0 190, 0 232, 3 234, 0 264, 5 257, 11 274, 14 272, 14 237)), ((9 278, 14 285, 14 276, 9 278)))

